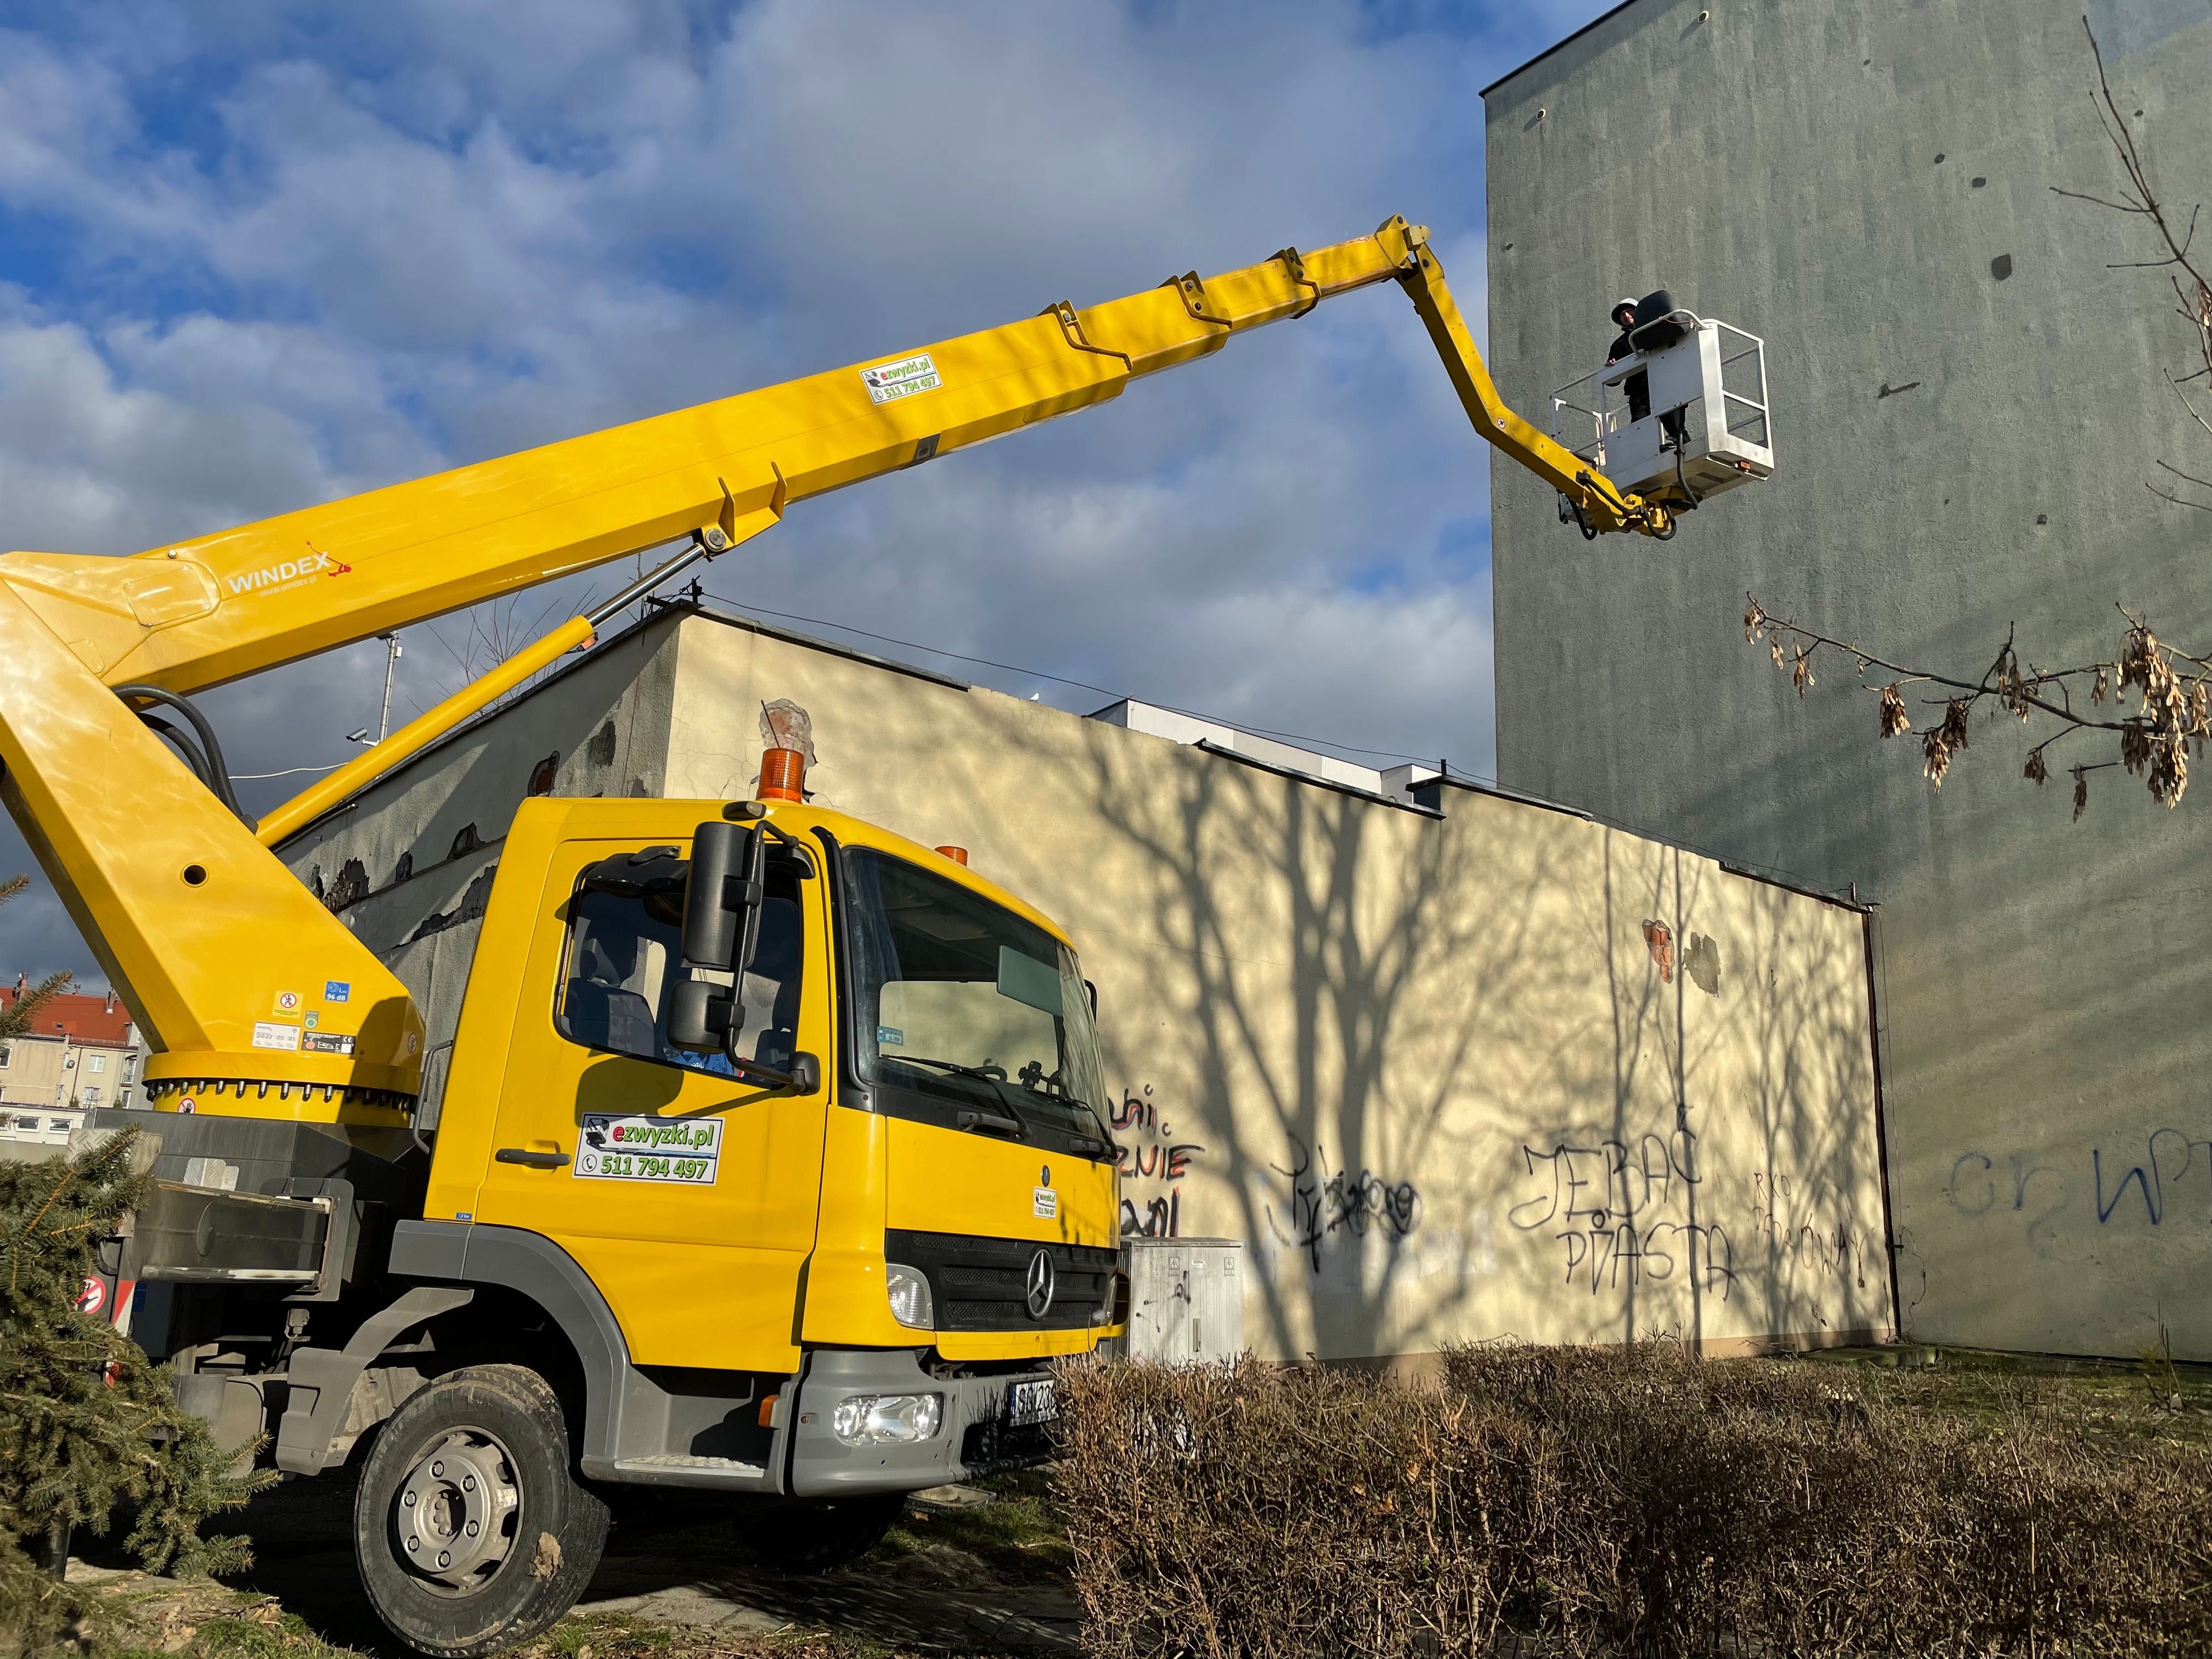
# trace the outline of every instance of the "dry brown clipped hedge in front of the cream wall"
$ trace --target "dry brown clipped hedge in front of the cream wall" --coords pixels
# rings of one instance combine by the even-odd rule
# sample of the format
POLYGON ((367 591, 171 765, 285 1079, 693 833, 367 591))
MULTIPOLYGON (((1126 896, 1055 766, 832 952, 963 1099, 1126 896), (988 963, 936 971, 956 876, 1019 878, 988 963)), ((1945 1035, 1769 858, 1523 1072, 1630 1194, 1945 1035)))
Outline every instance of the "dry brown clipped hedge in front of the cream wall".
POLYGON ((1137 1655, 2212 1650, 2212 1455, 1674 1347, 1068 1376, 1086 1644, 1137 1655))

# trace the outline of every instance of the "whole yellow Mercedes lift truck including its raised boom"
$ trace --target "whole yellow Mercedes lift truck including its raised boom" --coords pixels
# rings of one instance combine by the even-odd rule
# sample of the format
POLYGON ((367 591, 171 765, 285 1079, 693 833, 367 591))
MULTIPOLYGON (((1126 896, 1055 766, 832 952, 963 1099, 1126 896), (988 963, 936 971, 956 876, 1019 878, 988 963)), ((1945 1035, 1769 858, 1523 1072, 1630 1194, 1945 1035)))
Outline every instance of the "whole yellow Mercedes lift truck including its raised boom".
POLYGON ((1383 281, 1586 531, 1672 533, 1504 407, 1389 219, 135 557, 0 557, 0 796, 157 1051, 135 1329, 237 1444, 361 1464, 363 1584, 405 1641, 478 1655, 560 1617, 608 1484, 728 1493, 821 1566, 905 1491, 1046 1455, 1046 1363, 1121 1321, 1093 995, 1048 918, 807 807, 781 752, 759 801, 529 801, 431 1130, 420 1011, 270 847, 796 502, 1383 281), (670 542, 239 812, 192 692, 670 542))

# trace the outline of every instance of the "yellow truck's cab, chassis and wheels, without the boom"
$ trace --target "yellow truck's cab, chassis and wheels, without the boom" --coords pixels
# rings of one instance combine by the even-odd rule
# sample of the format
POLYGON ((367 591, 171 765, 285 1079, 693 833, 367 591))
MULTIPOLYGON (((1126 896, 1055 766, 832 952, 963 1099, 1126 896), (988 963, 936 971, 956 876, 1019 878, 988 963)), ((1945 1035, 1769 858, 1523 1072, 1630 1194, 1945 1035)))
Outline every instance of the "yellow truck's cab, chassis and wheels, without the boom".
MULTIPOLYGON (((303 1042, 374 1018, 321 991, 303 1042)), ((526 801, 434 1119, 164 1086, 137 1336, 281 1469, 361 1462, 363 1579, 425 1652, 557 1617, 606 1486, 856 1553, 900 1493, 1042 1460, 1048 1363, 1121 1329, 1093 1013, 958 849, 803 799, 526 801), (743 869, 703 872, 732 823, 743 869)))

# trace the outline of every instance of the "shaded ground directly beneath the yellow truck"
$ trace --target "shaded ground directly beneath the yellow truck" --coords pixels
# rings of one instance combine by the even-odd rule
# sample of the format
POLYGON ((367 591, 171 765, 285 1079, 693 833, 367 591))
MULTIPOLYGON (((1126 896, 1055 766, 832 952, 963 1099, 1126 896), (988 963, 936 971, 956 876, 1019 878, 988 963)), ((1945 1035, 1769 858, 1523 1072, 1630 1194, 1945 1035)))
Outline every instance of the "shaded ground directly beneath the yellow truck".
MULTIPOLYGON (((276 1597, 330 1644, 403 1655, 354 1577, 352 1484, 292 1480, 254 1500, 243 1531, 254 1568, 239 1588, 276 1597)), ((212 1531, 226 1531, 219 1522, 212 1531)), ((914 1531, 927 1531, 927 1522, 914 1531)), ((785 1577, 754 1562, 712 1504, 655 1493, 619 1511, 580 1615, 728 1637, 834 1630, 900 1650, 1075 1652, 1075 1604, 1057 1584, 1006 1584, 975 1557, 936 1544, 863 1559, 841 1573, 785 1577)))

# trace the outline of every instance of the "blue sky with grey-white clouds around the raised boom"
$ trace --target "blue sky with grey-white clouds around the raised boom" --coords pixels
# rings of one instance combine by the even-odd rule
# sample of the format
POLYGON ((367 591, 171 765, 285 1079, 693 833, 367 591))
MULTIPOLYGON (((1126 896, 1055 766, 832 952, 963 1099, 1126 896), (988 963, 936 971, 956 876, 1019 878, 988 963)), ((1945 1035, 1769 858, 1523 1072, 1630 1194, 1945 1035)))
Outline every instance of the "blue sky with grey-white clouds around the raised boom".
MULTIPOLYGON (((1604 9, 0 2, 0 546, 133 553, 1389 212, 1482 316, 1478 88, 1604 9)), ((1486 770, 1486 480, 1371 290, 810 504, 712 588, 1486 770)), ((396 717, 467 639, 409 635, 396 717)), ((380 677, 206 703, 234 772, 327 765, 380 677)), ((0 945, 97 980, 46 894, 0 945)))

